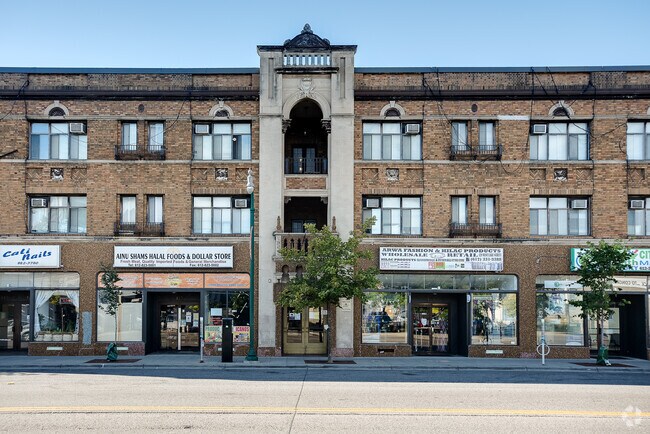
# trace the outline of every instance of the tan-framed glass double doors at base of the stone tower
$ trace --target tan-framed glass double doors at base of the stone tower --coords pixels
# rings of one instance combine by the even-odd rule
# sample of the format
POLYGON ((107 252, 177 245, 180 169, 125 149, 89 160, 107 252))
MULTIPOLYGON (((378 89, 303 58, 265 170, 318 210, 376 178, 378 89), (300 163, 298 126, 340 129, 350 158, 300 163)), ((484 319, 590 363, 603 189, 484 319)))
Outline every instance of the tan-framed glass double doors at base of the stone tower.
POLYGON ((327 353, 323 309, 284 309, 284 353, 293 355, 327 353))

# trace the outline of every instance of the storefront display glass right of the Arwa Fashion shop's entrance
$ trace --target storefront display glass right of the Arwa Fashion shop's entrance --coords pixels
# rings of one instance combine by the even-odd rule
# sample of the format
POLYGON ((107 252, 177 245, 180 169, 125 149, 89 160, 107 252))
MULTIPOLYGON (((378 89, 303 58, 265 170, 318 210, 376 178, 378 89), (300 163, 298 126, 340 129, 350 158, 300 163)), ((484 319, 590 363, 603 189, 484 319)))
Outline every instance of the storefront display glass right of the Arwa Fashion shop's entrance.
POLYGON ((517 294, 472 294, 472 344, 517 345, 517 294))

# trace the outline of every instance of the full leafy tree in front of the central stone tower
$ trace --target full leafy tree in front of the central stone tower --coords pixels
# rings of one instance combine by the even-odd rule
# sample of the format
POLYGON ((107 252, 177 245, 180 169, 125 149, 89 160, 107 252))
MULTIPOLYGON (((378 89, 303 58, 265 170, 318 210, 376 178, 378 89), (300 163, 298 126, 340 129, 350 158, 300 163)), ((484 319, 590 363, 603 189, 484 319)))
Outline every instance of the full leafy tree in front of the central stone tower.
POLYGON ((327 362, 332 363, 329 333, 332 329, 331 309, 340 307, 341 299, 366 299, 365 290, 379 286, 379 273, 375 267, 362 267, 360 261, 370 260, 370 250, 360 248, 366 232, 374 219, 368 219, 361 230, 353 231, 347 241, 332 232, 328 226, 317 230, 313 224, 305 225, 310 234, 309 248, 298 251, 284 248, 282 257, 292 263, 300 263, 303 273, 291 278, 278 298, 283 307, 305 309, 327 308, 327 362))

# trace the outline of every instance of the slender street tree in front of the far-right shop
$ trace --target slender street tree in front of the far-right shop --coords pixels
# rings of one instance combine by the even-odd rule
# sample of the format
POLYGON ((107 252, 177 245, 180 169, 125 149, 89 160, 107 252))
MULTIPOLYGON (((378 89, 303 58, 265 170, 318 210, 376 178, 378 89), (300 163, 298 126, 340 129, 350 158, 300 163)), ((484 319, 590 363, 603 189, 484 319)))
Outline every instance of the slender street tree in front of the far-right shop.
MULTIPOLYGON (((628 268, 632 253, 620 243, 609 244, 601 240, 598 244, 588 243, 578 258, 578 283, 583 290, 579 300, 569 303, 580 307, 581 318, 592 318, 597 324, 598 363, 608 364, 604 347, 604 325, 613 314, 612 296, 615 294, 615 274, 628 268)), ((618 301, 627 304, 626 300, 618 301)))

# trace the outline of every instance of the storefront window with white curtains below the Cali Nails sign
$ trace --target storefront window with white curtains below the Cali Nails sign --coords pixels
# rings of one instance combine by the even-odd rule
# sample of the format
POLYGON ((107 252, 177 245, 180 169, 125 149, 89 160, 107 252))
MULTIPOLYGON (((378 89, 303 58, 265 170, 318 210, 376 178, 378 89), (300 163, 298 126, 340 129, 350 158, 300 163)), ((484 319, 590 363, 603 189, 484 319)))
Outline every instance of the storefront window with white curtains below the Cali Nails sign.
POLYGON ((37 341, 56 342, 79 339, 79 291, 35 291, 34 337, 37 341))

